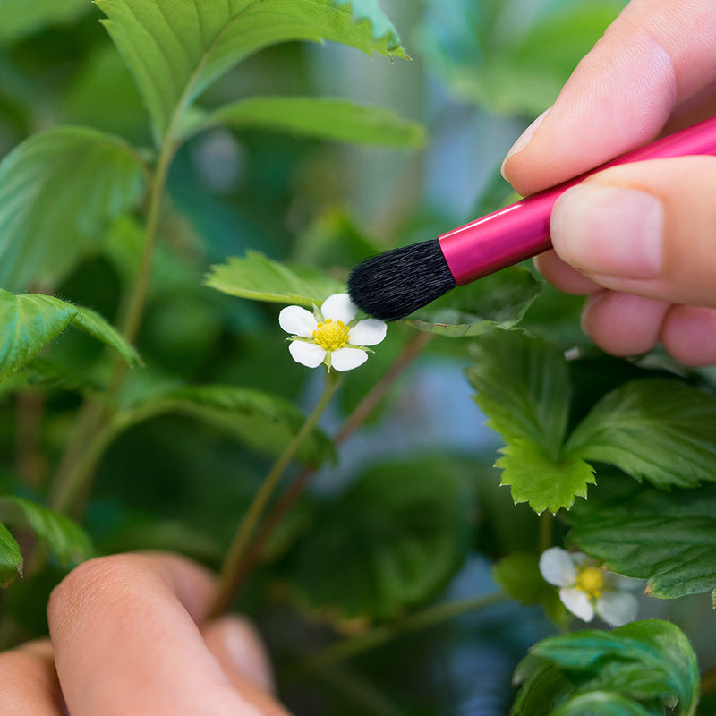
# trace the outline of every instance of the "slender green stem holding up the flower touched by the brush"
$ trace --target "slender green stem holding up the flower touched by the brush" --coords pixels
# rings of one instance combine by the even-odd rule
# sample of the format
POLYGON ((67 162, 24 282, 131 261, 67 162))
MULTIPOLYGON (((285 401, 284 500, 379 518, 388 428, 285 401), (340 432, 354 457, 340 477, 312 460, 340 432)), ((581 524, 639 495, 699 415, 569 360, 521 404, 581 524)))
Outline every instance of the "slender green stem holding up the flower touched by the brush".
POLYGON ((234 535, 232 542, 224 560, 224 566, 221 568, 219 575, 219 583, 214 601, 211 605, 210 615, 218 616, 228 609, 234 598, 236 584, 242 571, 243 557, 251 543, 251 536, 259 524, 261 515, 268 505, 268 501, 273 496, 278 482, 281 479, 288 464, 294 459, 299 448, 303 445, 303 441, 311 435, 312 430, 319 422, 321 414, 328 407, 331 398, 335 395, 340 386, 340 377, 335 372, 326 372, 326 382, 323 388, 323 394, 313 412, 306 418, 301 429, 294 435, 294 439, 286 446, 284 452, 278 457, 265 480, 261 483, 260 490, 251 501, 251 505, 243 516, 241 524, 234 535))

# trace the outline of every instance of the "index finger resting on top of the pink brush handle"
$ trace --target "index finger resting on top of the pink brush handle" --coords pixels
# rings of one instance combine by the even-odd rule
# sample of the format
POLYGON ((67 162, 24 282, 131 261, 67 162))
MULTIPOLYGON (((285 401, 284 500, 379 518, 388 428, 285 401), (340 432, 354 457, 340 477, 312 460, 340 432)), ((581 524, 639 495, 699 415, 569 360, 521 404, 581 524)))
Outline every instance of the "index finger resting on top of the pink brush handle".
POLYGON ((523 195, 580 175, 652 141, 675 107, 714 80, 713 0, 632 0, 503 172, 523 195))

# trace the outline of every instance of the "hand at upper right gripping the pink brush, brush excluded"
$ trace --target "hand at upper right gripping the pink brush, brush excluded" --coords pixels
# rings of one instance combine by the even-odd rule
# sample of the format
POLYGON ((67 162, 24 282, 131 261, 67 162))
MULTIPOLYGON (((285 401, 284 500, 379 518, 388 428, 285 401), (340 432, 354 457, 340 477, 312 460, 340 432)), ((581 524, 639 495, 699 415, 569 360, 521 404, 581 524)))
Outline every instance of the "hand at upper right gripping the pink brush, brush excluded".
MULTIPOLYGON (((713 0, 632 0, 555 104, 516 141, 503 174, 531 194, 716 114, 713 0)), ((550 283, 588 296, 583 328, 612 354, 661 342, 716 362, 716 158, 609 168, 551 217, 550 283)))

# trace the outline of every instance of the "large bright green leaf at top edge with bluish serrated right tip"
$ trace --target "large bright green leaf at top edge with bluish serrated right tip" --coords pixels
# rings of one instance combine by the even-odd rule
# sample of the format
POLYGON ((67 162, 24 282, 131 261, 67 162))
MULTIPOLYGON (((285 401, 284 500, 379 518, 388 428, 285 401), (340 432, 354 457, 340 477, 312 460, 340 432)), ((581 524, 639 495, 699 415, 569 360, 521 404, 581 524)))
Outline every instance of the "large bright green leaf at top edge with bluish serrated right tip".
POLYGON ((338 0, 98 0, 97 5, 139 85, 158 143, 175 115, 191 107, 211 82, 264 47, 328 39, 369 55, 405 57, 385 15, 365 0, 355 2, 354 11, 338 0))

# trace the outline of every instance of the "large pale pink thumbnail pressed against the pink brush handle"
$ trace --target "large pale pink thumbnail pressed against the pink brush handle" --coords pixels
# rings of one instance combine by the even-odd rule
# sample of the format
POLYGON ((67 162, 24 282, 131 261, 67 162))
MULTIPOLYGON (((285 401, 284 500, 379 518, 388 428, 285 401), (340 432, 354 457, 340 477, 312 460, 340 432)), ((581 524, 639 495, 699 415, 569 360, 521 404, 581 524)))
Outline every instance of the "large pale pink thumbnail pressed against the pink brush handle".
POLYGON ((664 211, 648 192, 578 184, 552 209, 562 260, 588 276, 656 278, 663 264, 664 211))

